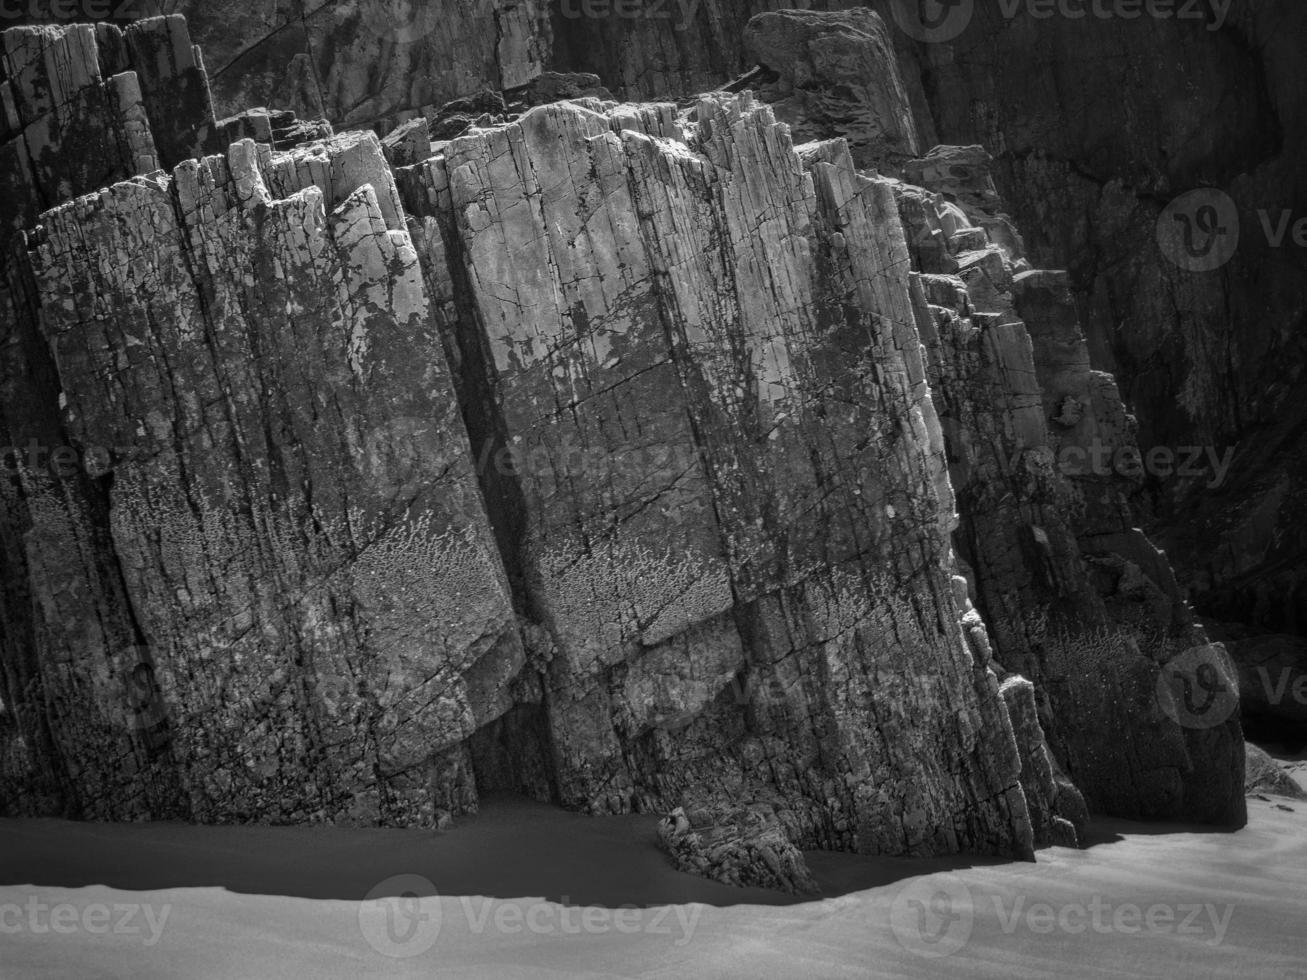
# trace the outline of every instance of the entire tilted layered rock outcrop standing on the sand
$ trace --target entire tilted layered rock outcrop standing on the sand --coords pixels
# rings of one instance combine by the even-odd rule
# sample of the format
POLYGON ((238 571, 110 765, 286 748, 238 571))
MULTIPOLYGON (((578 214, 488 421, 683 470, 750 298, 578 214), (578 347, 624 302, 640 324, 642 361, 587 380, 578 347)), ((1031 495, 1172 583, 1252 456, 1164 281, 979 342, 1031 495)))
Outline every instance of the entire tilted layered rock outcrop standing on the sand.
MULTIPOLYGON (((103 89, 118 37, 9 31, 42 68, 7 91, 103 89)), ((1065 281, 983 152, 907 161, 897 72, 889 136, 800 145, 746 91, 383 144, 154 84, 107 178, 38 172, 9 222, 5 425, 72 465, 5 483, 7 810, 418 826, 511 789, 744 805, 783 857, 1029 855, 1077 785, 1243 819, 1236 715, 1155 696, 1206 638, 1128 487, 1055 459, 1129 442, 1065 281), (887 146, 914 183, 859 169, 887 146)))

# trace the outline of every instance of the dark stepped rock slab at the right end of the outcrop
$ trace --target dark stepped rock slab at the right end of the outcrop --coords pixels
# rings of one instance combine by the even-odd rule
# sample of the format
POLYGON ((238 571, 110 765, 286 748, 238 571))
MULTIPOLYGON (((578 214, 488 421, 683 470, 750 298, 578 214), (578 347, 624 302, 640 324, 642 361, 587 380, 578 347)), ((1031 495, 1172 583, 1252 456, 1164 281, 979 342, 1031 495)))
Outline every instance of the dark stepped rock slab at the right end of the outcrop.
POLYGON ((982 148, 937 148, 906 171, 924 186, 895 191, 957 546, 996 659, 1035 682, 1056 758, 1094 809, 1238 811, 1235 727, 1176 727, 1157 711, 1159 666, 1176 669, 1208 636, 1132 527, 1136 482, 1094 463, 1098 448, 1137 453, 1133 419, 1111 376, 1090 370, 1067 276, 1030 269, 982 148), (1081 734, 1104 719, 1121 737, 1081 734))

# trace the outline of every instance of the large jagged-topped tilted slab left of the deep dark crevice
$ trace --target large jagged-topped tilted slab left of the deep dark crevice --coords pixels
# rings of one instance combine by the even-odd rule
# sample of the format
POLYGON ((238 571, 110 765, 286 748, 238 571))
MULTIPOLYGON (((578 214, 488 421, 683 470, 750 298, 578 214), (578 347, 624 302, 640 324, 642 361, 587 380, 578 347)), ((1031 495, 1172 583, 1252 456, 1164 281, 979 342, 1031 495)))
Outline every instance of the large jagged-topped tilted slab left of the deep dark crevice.
POLYGON ((467 674, 521 653, 376 137, 237 142, 29 246, 67 430, 122 456, 111 532, 158 683, 133 720, 195 815, 422 821, 433 753, 494 711, 467 674))

